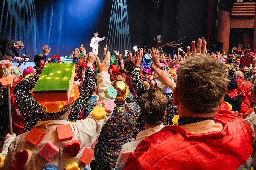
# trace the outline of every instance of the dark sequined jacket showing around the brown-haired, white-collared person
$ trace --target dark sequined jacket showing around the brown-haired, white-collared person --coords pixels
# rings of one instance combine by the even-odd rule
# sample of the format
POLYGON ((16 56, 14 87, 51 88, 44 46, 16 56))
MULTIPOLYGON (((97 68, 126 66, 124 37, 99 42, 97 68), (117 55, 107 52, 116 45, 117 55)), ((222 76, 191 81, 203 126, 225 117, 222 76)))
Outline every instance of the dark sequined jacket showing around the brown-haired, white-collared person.
MULTIPOLYGON (((162 69, 166 70, 167 68, 162 67, 162 69)), ((145 88, 145 86, 143 85, 140 79, 141 79, 140 70, 135 68, 134 71, 131 72, 131 81, 133 83, 133 88, 135 89, 135 92, 138 98, 142 97, 147 92, 147 89, 145 88)), ((178 114, 177 107, 172 104, 173 94, 169 93, 169 94, 166 94, 166 96, 168 98, 167 110, 166 110, 166 116, 162 123, 166 125, 167 124, 173 125, 172 119, 175 115, 178 114)), ((137 134, 140 131, 143 131, 144 128, 145 128, 145 123, 142 121, 142 117, 139 115, 134 128, 133 137, 136 138, 137 134)))

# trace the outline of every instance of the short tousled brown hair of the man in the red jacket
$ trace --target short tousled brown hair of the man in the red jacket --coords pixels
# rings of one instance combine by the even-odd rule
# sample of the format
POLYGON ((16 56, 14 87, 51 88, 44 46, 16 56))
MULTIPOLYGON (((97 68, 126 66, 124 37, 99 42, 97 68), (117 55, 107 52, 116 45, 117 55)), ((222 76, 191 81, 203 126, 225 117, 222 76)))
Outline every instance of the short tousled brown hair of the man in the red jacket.
POLYGON ((213 113, 219 108, 229 79, 224 64, 210 56, 193 54, 177 70, 179 100, 193 113, 213 113))

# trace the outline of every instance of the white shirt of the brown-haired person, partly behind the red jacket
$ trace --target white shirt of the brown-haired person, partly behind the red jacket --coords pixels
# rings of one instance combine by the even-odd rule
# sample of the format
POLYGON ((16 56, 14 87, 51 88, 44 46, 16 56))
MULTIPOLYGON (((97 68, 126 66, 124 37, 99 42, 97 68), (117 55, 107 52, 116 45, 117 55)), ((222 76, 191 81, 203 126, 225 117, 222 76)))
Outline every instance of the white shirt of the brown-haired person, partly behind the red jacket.
POLYGON ((121 147, 121 150, 120 150, 120 154, 119 154, 119 157, 117 159, 117 163, 116 163, 116 168, 119 167, 119 166, 123 166, 124 163, 123 163, 123 156, 122 156, 122 152, 125 152, 125 151, 134 151, 138 144, 145 138, 147 138, 147 136, 150 136, 158 131, 160 131, 162 128, 164 128, 165 125, 160 125, 160 126, 156 126, 154 128, 148 128, 148 129, 145 129, 141 132, 139 132, 136 136, 136 140, 135 141, 132 141, 132 142, 128 142, 124 145, 122 145, 121 147))

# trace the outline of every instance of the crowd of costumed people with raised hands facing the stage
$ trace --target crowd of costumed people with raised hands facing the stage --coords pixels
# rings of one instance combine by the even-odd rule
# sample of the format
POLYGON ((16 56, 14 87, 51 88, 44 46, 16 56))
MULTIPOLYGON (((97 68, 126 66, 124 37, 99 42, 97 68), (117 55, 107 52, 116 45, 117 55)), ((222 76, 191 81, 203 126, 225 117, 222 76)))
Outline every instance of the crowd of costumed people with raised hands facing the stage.
MULTIPOLYGON (((46 61, 60 63, 59 55, 50 57, 45 45, 43 54, 34 57, 35 67, 23 72, 17 68, 10 88, 14 133, 9 133, 8 123, 1 123, 4 169, 256 168, 256 57, 250 66, 242 66, 239 59, 246 52, 209 54, 206 41, 198 39, 197 45, 193 41, 191 49, 178 49, 173 57, 158 47, 122 55, 106 46, 100 61, 95 54, 104 38, 94 34, 93 52, 86 54, 81 44, 66 57, 75 65, 80 95, 61 111, 50 113, 33 97, 46 61), (96 118, 95 112, 106 104, 111 108, 96 118), (65 125, 70 125, 72 138, 62 141, 57 129, 65 125), (36 145, 28 142, 30 134, 38 133, 44 135, 36 145), (70 156, 66 144, 74 140, 80 149, 70 156), (46 147, 51 149, 42 151, 46 147), (91 167, 82 161, 86 148, 94 152, 91 167), (29 160, 20 161, 19 151, 30 155, 29 160)), ((21 43, 11 41, 10 48, 23 48, 21 43)), ((12 58, 10 52, 2 56, 12 58)), ((5 91, 1 87, 2 106, 5 91)))

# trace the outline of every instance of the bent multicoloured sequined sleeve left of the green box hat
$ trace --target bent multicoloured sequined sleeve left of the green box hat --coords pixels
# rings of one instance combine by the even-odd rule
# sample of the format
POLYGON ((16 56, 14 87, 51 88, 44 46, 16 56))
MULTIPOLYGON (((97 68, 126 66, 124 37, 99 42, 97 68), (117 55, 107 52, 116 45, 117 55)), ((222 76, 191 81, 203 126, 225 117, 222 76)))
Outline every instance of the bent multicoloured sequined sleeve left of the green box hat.
POLYGON ((13 91, 15 102, 23 116, 25 132, 30 131, 37 122, 45 119, 42 108, 29 93, 35 87, 38 78, 38 75, 32 73, 31 76, 20 81, 13 91))

